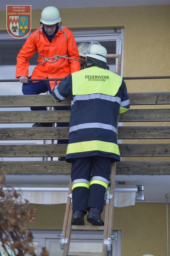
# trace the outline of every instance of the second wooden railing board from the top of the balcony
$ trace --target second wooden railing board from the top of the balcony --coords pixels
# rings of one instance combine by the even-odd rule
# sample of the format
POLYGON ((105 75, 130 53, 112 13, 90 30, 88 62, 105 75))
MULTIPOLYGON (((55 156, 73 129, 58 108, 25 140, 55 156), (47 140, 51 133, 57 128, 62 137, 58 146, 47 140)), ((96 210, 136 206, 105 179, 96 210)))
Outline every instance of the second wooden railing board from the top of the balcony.
MULTIPOLYGON (((69 120, 69 110, 0 112, 0 123, 65 123, 69 120)), ((130 109, 119 115, 119 122, 161 121, 170 121, 170 109, 130 109)))

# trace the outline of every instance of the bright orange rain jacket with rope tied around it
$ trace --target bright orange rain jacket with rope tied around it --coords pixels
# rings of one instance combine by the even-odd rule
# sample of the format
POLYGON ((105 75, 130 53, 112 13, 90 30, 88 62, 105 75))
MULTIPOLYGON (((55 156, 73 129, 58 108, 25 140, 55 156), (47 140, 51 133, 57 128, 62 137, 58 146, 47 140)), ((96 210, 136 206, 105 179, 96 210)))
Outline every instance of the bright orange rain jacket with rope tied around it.
MULTIPOLYGON (((42 27, 34 31, 29 38, 26 40, 23 48, 17 55, 16 65, 16 78, 20 76, 29 76, 28 60, 38 50, 39 56, 37 61, 38 65, 32 72, 32 79, 43 79, 43 78, 64 78, 70 75, 70 73, 80 70, 80 57, 77 49, 76 41, 72 32, 63 26, 59 26, 57 33, 54 36, 52 42, 49 42, 47 37, 42 33, 42 27), (64 33, 64 31, 65 33, 64 33), (73 58, 77 60, 71 60, 67 58, 60 58, 54 61, 54 55, 65 56, 67 58, 73 58), (51 58, 49 61, 45 61, 43 58, 51 58), (45 61, 43 64, 41 64, 45 61)), ((57 84, 60 81, 57 81, 57 84)), ((54 89, 54 81, 50 81, 51 91, 54 89)))

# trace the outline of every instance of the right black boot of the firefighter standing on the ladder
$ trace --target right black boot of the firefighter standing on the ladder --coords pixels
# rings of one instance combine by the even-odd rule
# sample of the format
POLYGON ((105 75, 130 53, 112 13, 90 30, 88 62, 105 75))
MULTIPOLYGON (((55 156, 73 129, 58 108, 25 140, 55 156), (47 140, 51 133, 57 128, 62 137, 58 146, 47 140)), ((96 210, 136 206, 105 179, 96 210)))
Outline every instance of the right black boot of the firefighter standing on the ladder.
POLYGON ((101 211, 96 208, 90 207, 87 215, 87 221, 92 224, 92 226, 104 226, 104 222, 100 217, 101 211))

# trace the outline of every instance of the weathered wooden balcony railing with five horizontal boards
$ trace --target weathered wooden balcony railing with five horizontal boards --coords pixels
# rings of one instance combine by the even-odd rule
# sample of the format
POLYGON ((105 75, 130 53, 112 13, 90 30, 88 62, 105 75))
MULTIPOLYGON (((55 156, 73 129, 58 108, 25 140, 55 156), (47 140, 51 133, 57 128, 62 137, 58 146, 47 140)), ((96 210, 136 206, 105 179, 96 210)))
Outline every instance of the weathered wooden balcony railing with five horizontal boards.
MULTIPOLYGON (((153 78, 155 79, 155 77, 148 79, 153 78)), ((147 78, 140 77, 139 79, 147 78)), ((0 80, 2 81, 4 80, 0 80)), ((168 123, 165 124, 170 121, 168 106, 170 105, 170 92, 129 93, 129 97, 130 104, 134 107, 119 115, 119 122, 124 124, 118 128, 118 139, 122 140, 119 143, 122 161, 116 164, 116 173, 170 174, 170 143, 168 141, 170 126, 168 123), (147 108, 146 106, 143 108, 144 105, 148 105, 147 108), (165 107, 160 108, 159 105, 165 107)), ((68 139, 68 127, 14 127, 14 123, 69 122, 70 111, 68 110, 25 111, 23 109, 38 106, 70 106, 70 98, 57 103, 51 95, 0 96, 0 108, 9 108, 9 111, 0 111, 0 123, 2 124, 0 140, 4 141, 0 145, 1 166, 7 174, 70 174, 71 164, 53 159, 66 155, 67 145, 54 144, 54 140, 68 139), (15 107, 19 110, 13 111, 12 108, 15 107), (10 124, 10 128, 4 128, 5 123, 10 124), (51 144, 21 144, 23 140, 51 140, 51 144), (24 160, 12 161, 14 157, 24 157, 24 160), (27 161, 28 157, 42 157, 48 160, 27 161), (3 158, 11 159, 3 161, 3 158)))

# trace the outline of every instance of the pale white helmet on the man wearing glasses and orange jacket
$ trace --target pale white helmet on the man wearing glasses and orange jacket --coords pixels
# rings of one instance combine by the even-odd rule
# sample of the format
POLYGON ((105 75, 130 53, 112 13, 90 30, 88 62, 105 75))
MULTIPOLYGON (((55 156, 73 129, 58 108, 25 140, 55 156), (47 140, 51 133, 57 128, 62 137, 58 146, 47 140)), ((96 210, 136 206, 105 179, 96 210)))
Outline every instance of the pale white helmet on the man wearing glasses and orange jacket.
POLYGON ((53 25, 61 22, 60 13, 54 6, 48 6, 42 10, 40 22, 53 25))

